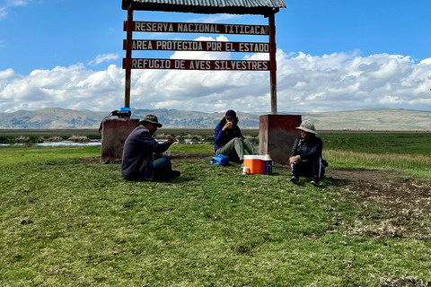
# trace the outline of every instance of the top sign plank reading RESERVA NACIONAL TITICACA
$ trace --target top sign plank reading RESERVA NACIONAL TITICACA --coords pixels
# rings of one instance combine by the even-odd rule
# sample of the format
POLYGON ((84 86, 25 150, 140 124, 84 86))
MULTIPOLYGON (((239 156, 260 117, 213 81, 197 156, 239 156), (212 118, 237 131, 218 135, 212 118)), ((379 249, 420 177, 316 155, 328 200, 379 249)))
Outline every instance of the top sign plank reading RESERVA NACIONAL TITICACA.
MULTIPOLYGON (((124 22, 123 30, 127 30, 128 22, 124 22)), ((164 33, 209 33, 238 35, 269 35, 268 25, 239 25, 211 23, 180 23, 180 22, 133 22, 136 32, 164 33)))

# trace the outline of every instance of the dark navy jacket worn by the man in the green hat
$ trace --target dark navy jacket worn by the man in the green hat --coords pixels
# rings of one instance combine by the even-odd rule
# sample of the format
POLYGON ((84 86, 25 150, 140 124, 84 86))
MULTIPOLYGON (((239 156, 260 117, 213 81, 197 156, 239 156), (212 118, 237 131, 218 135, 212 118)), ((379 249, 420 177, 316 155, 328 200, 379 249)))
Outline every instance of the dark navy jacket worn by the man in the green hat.
POLYGON ((121 176, 136 180, 153 180, 153 153, 162 153, 170 145, 168 142, 158 143, 145 128, 137 126, 124 143, 121 176))

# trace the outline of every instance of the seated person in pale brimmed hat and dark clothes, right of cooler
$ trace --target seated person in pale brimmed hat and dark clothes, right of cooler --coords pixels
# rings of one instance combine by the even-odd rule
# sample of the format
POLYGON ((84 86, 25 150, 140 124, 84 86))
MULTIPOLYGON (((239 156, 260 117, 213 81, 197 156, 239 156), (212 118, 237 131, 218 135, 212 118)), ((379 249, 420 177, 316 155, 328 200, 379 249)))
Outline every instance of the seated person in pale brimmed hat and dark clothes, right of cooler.
POLYGON ((292 178, 290 181, 296 183, 299 177, 312 178, 312 185, 319 186, 319 180, 325 174, 326 161, 321 159, 323 142, 317 137, 317 132, 308 120, 304 120, 301 126, 301 135, 296 138, 292 153, 290 154, 290 166, 292 167, 292 178))

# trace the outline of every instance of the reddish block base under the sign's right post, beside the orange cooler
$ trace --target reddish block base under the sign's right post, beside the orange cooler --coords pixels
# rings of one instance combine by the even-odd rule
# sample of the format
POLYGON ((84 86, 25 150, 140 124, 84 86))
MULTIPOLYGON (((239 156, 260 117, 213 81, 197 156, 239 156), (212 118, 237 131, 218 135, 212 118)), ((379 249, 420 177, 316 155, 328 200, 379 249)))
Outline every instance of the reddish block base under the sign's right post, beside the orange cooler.
POLYGON ((269 154, 272 161, 289 163, 290 152, 299 136, 299 115, 263 115, 259 117, 259 154, 269 154))

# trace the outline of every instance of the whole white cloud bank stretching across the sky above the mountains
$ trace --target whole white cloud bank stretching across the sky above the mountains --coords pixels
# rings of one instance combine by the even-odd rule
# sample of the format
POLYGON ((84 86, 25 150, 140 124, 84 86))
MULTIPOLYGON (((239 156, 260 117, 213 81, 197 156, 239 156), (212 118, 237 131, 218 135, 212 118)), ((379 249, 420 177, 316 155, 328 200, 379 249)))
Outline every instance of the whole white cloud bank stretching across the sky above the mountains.
MULTIPOLYGON (((175 52, 172 58, 221 58, 215 53, 183 53, 175 52)), ((133 109, 270 112, 268 72, 133 70, 131 84, 133 109)), ((353 52, 316 57, 277 51, 280 112, 381 107, 431 111, 430 88, 427 60, 415 64, 400 55, 361 57, 353 52)), ((110 111, 123 103, 124 70, 116 65, 102 71, 83 64, 57 66, 28 75, 0 71, 0 112, 46 107, 110 111)))

